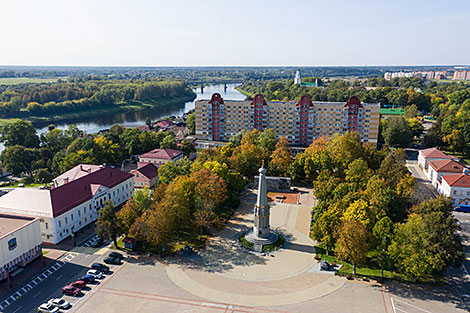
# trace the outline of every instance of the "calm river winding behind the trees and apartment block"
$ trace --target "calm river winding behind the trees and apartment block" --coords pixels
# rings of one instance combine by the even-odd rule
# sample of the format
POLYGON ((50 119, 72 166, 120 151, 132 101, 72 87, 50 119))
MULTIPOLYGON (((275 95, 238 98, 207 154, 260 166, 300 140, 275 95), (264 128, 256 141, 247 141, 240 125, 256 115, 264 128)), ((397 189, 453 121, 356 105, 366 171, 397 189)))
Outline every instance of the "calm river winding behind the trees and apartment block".
MULTIPOLYGON (((239 84, 227 84, 227 90, 224 91, 224 85, 209 85, 204 87, 204 92, 201 88, 194 89, 197 97, 194 101, 181 102, 168 106, 155 107, 152 109, 126 112, 126 113, 113 113, 105 116, 86 117, 67 122, 54 123, 56 128, 66 129, 70 124, 75 124, 77 127, 86 133, 96 133, 103 129, 109 129, 114 124, 121 124, 125 126, 140 126, 145 124, 145 120, 150 118, 152 121, 158 120, 168 116, 181 116, 194 109, 194 102, 196 100, 209 100, 214 92, 218 92, 224 99, 227 100, 244 100, 245 95, 235 90, 239 84)), ((36 128, 38 134, 47 131, 47 126, 36 128)), ((2 149, 3 147, 0 147, 2 149)))

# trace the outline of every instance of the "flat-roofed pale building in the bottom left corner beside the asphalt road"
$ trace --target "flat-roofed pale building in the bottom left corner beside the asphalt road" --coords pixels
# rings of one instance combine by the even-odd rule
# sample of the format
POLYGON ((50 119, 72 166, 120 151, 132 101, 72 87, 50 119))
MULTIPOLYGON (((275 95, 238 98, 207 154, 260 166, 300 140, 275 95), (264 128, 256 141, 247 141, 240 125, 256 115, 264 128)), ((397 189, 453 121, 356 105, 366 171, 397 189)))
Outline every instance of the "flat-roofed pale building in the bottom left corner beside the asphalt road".
POLYGON ((41 255, 39 219, 0 214, 0 281, 41 255))

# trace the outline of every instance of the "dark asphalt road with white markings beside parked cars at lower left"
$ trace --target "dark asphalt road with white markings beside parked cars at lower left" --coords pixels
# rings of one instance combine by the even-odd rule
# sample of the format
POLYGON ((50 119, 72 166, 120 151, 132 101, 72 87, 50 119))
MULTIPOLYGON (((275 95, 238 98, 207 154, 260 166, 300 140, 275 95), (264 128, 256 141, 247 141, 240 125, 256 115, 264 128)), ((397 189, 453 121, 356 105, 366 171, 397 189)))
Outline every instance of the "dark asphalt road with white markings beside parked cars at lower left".
MULTIPOLYGON (((87 249, 74 249, 84 250, 87 249)), ((90 249, 88 249, 90 250, 90 249)), ((96 250, 96 249, 95 249, 96 250)), ((105 249, 108 250, 108 249, 105 249)), ((98 250, 96 250, 98 251, 98 250)), ((103 250, 101 251, 103 252, 103 250)), ((44 302, 47 302, 51 298, 62 297, 62 287, 75 281, 78 277, 85 275, 89 270, 89 266, 94 262, 100 262, 107 256, 104 254, 87 254, 87 253, 73 253, 75 257, 71 258, 69 262, 66 262, 62 267, 57 269, 54 273, 49 275, 47 278, 42 280, 39 284, 34 286, 31 290, 24 293, 18 300, 9 305, 3 312, 4 313, 23 313, 23 312, 37 312, 37 308, 44 302)), ((112 269, 113 267, 110 266, 112 269)), ((99 282, 98 282, 99 284, 99 282)), ((93 288, 93 285, 90 285, 93 288)), ((87 287, 89 291, 89 287, 87 287)), ((85 294, 87 292, 85 289, 85 294)), ((73 298, 64 296, 64 299, 71 303, 80 301, 82 297, 73 298)))

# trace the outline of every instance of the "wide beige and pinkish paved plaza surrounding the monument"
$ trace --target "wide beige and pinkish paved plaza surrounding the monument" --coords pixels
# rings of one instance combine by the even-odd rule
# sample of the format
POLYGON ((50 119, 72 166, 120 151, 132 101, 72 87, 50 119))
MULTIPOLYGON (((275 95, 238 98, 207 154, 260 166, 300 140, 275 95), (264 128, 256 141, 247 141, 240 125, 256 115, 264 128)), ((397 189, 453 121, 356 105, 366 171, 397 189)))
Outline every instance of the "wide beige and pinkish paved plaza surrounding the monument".
POLYGON ((129 257, 69 312, 466 312, 464 299, 441 287, 347 281, 319 273, 308 237, 311 192, 300 204, 272 204, 271 225, 288 243, 271 255, 240 248, 256 194, 247 191, 227 227, 191 257, 129 257))

